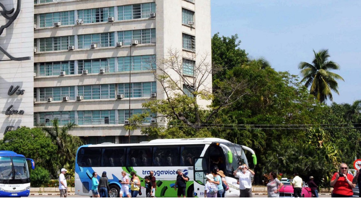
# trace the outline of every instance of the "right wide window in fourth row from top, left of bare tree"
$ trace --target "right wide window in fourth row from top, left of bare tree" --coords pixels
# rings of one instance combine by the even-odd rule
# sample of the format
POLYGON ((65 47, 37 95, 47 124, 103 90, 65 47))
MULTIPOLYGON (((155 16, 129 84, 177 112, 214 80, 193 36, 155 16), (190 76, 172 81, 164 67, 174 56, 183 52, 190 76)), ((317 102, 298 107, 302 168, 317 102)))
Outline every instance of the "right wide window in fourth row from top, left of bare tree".
POLYGON ((156 86, 157 86, 156 82, 130 83, 130 92, 129 92, 129 83, 119 83, 118 94, 124 94, 125 98, 151 97, 151 93, 157 92, 156 86))

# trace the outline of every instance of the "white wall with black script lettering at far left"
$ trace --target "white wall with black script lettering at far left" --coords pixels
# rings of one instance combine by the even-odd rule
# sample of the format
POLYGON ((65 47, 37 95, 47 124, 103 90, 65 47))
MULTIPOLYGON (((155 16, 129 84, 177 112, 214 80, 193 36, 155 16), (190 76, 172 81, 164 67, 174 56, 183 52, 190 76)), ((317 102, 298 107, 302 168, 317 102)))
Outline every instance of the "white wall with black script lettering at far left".
MULTIPOLYGON (((17 9, 17 0, 1 0, 6 10, 17 9)), ((12 14, 10 14, 12 15, 12 14)), ((3 61, 8 56, 0 52, 0 138, 3 138, 6 127, 33 127, 33 86, 34 86, 34 1, 22 0, 21 10, 15 21, 0 36, 0 46, 14 57, 30 56, 30 60, 3 61), (20 86, 25 90, 23 95, 16 93, 9 96, 10 86, 20 86), (12 110, 23 110, 22 115, 5 115, 9 106, 12 110)), ((0 16, 0 26, 9 20, 0 16)))

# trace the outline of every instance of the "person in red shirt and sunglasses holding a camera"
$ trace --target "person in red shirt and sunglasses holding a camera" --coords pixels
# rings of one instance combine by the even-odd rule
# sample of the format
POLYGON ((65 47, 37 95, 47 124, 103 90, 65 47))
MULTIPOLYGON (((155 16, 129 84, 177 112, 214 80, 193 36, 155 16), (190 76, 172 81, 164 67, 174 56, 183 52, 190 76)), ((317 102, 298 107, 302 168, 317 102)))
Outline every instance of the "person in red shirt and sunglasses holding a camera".
POLYGON ((334 187, 331 197, 352 197, 352 188, 356 187, 356 184, 352 183, 353 176, 347 173, 347 164, 340 164, 340 172, 334 173, 331 178, 331 187, 334 187))

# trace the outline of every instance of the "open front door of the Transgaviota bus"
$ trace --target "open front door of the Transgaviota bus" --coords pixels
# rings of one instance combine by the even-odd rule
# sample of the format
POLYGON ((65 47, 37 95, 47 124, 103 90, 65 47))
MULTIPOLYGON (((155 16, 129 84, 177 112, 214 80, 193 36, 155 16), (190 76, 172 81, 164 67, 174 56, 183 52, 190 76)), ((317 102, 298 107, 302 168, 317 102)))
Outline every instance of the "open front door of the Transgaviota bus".
POLYGON ((204 197, 204 185, 207 181, 206 174, 210 173, 208 169, 208 158, 197 157, 194 158, 193 177, 194 177, 194 196, 204 197))

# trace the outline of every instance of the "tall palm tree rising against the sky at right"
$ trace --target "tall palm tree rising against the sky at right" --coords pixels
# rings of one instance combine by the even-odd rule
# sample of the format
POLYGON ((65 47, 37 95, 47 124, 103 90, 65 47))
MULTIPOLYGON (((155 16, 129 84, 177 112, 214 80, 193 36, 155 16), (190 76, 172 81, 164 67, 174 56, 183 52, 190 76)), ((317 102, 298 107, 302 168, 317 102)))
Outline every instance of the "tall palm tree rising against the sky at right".
POLYGON ((331 90, 339 95, 336 79, 342 81, 344 79, 329 70, 340 69, 340 66, 332 60, 328 60, 330 57, 328 49, 317 53, 313 50, 313 53, 312 64, 300 62, 298 65, 303 76, 301 82, 306 81, 305 86, 311 86, 310 94, 314 95, 320 103, 324 103, 327 99, 333 101, 331 90))

